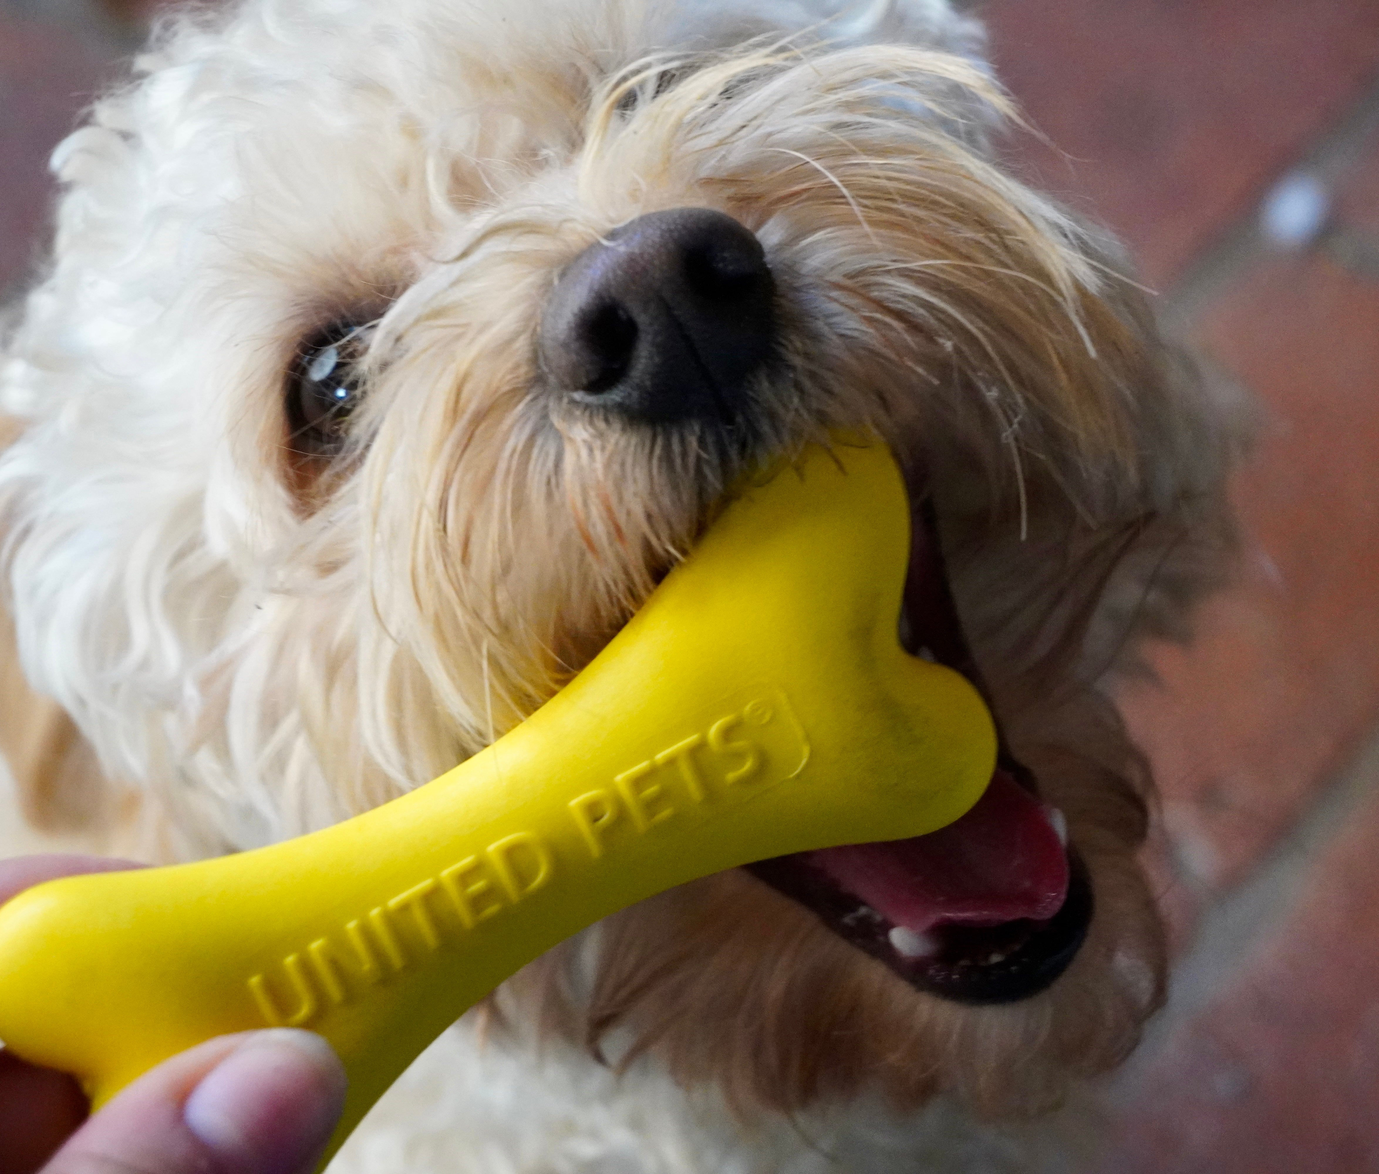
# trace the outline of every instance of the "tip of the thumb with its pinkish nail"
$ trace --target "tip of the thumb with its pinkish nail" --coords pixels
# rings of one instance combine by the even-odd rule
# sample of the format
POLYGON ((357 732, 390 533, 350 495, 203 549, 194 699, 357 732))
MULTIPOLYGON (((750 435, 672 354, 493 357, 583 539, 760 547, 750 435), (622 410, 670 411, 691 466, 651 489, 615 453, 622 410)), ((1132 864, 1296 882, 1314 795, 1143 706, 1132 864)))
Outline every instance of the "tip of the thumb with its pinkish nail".
POLYGON ((320 1036, 261 1032, 186 1100, 186 1127, 245 1174, 299 1174, 330 1140, 345 1105, 345 1069, 320 1036))

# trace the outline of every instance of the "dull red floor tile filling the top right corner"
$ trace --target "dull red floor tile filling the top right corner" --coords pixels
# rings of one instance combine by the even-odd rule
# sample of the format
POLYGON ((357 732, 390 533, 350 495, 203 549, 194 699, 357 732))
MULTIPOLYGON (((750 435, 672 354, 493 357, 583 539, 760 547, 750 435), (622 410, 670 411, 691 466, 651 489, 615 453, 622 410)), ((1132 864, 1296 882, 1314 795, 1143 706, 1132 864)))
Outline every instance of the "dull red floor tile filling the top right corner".
POLYGON ((990 0, 1041 182, 1164 286, 1379 72, 1375 0, 990 0))

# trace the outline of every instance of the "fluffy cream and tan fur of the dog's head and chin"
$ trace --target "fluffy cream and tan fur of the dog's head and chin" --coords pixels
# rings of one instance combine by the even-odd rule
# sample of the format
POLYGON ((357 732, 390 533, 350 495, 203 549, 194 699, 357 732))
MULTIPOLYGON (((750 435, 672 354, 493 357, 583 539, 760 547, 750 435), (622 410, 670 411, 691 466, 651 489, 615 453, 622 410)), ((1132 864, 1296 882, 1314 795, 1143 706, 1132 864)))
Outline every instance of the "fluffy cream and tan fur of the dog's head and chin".
POLYGON ((57 153, 55 259, 0 386, 25 424, 0 458, 8 606, 30 681, 142 790, 164 851, 247 847, 521 720, 742 470, 880 435, 934 494, 1005 737, 1087 862, 1069 971, 1011 1006, 943 1002, 728 873, 608 919, 491 1010, 743 1119, 938 1093, 1027 1115, 1121 1059, 1161 997, 1149 778, 1107 695, 1225 564, 1241 425, 1114 246, 993 161, 1011 112, 979 29, 942 0, 825 21, 841 10, 165 18, 57 153), (621 422, 535 359, 561 268, 681 206, 750 228, 779 291, 779 361, 731 430, 621 422), (378 327, 321 454, 284 399, 342 319, 378 327))

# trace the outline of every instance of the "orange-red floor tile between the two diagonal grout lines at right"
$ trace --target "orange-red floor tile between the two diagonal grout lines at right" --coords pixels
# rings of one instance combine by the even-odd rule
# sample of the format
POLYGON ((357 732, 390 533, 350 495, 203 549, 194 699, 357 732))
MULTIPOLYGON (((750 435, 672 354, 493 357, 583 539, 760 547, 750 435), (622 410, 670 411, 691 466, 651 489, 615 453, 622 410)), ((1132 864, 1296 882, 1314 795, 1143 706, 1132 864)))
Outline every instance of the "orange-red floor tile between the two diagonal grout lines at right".
POLYGON ((1185 866, 1240 879, 1379 717, 1379 286, 1324 258, 1255 270, 1207 315, 1271 418, 1236 499, 1254 566, 1131 720, 1185 866))

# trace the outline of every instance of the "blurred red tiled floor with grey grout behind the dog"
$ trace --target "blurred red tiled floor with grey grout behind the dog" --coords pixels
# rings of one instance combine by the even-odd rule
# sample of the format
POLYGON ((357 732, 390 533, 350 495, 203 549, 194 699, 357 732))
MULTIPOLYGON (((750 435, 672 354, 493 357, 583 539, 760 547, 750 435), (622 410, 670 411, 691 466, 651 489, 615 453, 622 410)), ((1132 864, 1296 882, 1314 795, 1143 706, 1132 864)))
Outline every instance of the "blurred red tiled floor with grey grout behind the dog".
MULTIPOLYGON (((1124 699, 1178 963, 1094 1170, 1379 1171, 1379 0, 980 8, 1045 137, 1012 163, 1116 229, 1266 408, 1242 582, 1124 699), (1260 207, 1289 182, 1322 215, 1282 247, 1260 207)), ((0 298, 41 257, 48 150, 148 11, 0 0, 0 298)))

